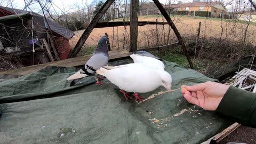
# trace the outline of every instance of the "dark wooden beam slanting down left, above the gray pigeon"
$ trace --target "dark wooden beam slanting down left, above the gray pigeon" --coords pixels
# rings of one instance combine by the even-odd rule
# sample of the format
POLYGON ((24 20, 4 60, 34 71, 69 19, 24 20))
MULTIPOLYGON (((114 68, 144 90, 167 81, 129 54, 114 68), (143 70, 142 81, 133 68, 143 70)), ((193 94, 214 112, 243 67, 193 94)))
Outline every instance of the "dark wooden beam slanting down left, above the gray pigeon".
POLYGON ((90 24, 86 27, 84 30, 84 33, 79 38, 78 42, 76 43, 76 46, 74 50, 69 55, 69 58, 75 58, 77 53, 82 49, 82 46, 84 45, 86 39, 91 34, 93 28, 97 25, 99 20, 102 18, 103 14, 108 10, 108 7, 114 2, 115 0, 107 0, 103 6, 100 8, 100 10, 97 12, 97 14, 94 16, 90 24))

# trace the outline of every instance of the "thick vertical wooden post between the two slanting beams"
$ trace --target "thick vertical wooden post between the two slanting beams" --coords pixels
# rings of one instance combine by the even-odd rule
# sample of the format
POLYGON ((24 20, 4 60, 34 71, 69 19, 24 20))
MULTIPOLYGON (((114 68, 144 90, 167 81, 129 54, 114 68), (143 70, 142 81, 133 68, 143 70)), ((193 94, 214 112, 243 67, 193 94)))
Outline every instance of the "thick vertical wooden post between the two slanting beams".
POLYGON ((131 0, 130 51, 137 51, 139 0, 131 0))

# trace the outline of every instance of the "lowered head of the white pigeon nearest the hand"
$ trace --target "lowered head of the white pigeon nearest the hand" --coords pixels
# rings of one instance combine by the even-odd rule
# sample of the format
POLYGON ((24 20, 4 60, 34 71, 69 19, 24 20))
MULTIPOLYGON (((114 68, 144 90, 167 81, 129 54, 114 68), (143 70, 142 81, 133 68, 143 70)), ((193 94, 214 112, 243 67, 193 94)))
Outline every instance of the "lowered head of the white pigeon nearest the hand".
POLYGON ((172 76, 164 70, 159 71, 158 74, 162 79, 161 85, 164 86, 168 92, 171 92, 172 76))

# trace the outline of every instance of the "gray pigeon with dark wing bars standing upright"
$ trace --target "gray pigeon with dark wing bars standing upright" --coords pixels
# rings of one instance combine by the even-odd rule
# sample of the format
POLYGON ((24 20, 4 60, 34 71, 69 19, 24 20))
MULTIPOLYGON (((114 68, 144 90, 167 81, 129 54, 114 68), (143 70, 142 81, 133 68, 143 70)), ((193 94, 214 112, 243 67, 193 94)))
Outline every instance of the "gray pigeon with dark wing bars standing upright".
MULTIPOLYGON (((85 65, 78 70, 74 75, 68 77, 68 81, 73 80, 70 86, 75 85, 80 79, 86 76, 93 75, 97 69, 107 65, 109 60, 107 37, 102 36, 99 40, 97 48, 94 50, 92 57, 85 63, 85 65)), ((97 84, 101 85, 98 79, 101 77, 96 76, 97 84)))

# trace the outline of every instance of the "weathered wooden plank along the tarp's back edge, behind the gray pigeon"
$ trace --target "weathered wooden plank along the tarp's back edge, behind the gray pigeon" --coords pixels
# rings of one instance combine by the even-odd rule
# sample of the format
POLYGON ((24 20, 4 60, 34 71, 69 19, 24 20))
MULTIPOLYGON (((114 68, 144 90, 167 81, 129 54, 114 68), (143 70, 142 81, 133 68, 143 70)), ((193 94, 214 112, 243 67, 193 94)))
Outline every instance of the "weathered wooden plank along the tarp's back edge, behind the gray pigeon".
MULTIPOLYGON (((131 54, 132 53, 127 50, 110 51, 109 60, 114 61, 122 57, 129 57, 131 54)), ((48 63, 43 63, 40 65, 34 65, 34 66, 29 66, 29 67, 20 68, 20 69, 1 71, 0 75, 2 74, 27 75, 30 73, 34 73, 35 71, 38 71, 46 66, 59 66, 59 67, 82 66, 86 63, 87 60, 91 58, 91 56, 92 55, 85 55, 82 57, 70 58, 70 59, 65 59, 65 60, 60 60, 55 62, 48 62, 48 63)))

